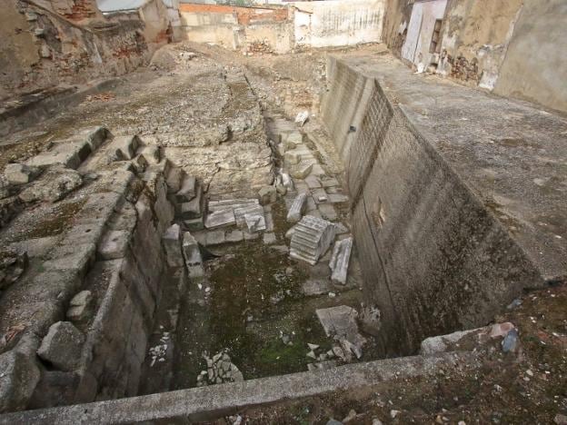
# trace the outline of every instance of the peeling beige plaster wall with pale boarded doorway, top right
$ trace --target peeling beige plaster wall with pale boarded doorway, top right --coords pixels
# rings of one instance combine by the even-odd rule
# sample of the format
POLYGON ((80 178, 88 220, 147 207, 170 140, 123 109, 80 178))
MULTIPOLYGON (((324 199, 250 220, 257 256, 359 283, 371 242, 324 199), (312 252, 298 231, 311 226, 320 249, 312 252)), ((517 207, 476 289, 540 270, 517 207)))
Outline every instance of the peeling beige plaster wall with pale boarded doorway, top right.
POLYGON ((436 3, 388 0, 383 38, 394 54, 461 84, 567 111, 567 67, 557 50, 567 37, 565 2, 448 0, 433 16, 436 3), (431 23, 442 18, 433 53, 431 23))

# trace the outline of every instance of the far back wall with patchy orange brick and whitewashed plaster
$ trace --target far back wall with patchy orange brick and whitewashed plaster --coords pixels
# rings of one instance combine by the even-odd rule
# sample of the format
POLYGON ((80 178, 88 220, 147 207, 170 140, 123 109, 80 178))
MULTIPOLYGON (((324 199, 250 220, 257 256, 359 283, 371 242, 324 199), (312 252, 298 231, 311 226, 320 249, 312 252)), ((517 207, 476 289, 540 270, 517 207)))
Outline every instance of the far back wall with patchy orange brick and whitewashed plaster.
POLYGON ((244 53, 288 53, 381 40, 384 0, 294 2, 286 7, 180 5, 184 34, 244 53))

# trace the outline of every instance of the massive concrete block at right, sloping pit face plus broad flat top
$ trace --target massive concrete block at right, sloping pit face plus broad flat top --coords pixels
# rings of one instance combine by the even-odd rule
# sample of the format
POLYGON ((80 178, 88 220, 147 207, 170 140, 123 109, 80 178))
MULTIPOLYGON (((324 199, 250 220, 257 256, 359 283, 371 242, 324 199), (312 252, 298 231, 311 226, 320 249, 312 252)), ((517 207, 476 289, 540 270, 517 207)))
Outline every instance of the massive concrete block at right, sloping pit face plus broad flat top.
POLYGON ((329 72, 323 118, 391 351, 482 325, 566 274, 564 119, 424 79, 390 56, 332 59, 329 72))

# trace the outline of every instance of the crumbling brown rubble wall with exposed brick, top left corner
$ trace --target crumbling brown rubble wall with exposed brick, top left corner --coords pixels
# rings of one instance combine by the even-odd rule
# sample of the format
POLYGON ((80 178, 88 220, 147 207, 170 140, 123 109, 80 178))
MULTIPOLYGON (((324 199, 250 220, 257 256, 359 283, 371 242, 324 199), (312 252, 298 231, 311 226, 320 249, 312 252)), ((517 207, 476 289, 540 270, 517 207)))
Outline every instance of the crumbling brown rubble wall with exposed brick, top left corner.
POLYGON ((125 74, 144 64, 140 18, 108 20, 93 7, 78 0, 6 0, 0 15, 0 98, 125 74))

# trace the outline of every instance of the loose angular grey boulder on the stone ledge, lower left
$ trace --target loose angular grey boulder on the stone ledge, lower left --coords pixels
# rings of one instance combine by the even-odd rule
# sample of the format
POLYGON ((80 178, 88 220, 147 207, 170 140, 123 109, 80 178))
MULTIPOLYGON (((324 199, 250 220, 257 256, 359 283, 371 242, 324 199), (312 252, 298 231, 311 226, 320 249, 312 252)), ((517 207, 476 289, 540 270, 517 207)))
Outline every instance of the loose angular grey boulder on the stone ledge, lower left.
POLYGON ((57 321, 50 326, 37 355, 61 371, 73 371, 81 359, 85 335, 70 321, 57 321))

